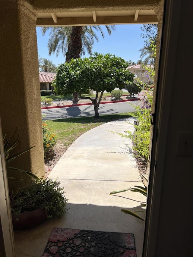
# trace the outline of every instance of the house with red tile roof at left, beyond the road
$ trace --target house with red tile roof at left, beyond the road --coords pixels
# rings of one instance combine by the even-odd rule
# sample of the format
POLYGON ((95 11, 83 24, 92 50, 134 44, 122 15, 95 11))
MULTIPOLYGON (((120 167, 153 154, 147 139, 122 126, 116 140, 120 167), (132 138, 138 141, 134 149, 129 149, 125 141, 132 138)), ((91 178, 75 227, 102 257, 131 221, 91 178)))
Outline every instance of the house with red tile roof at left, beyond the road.
POLYGON ((55 72, 40 72, 40 90, 52 90, 52 82, 56 76, 55 72))

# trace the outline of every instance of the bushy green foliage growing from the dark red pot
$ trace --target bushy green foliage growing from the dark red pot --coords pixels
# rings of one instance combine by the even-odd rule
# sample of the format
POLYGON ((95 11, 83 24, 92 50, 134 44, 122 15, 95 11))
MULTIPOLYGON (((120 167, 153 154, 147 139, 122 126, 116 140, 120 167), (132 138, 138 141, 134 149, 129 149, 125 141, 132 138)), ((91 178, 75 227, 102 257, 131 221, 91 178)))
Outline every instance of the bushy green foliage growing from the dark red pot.
POLYGON ((46 211, 47 217, 61 217, 66 212, 66 202, 63 188, 60 182, 51 179, 33 179, 29 186, 19 188, 12 193, 11 213, 20 214, 26 211, 33 211, 42 208, 46 211))

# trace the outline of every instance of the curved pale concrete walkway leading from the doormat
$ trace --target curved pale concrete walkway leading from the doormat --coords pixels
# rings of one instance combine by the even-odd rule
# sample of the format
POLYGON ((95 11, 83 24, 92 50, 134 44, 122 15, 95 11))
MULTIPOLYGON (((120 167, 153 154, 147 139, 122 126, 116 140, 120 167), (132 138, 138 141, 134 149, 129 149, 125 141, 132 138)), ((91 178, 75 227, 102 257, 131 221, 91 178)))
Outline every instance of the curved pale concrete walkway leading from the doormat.
POLYGON ((61 219, 52 218, 33 229, 15 231, 17 257, 40 257, 53 227, 134 233, 137 256, 141 256, 144 222, 120 209, 139 209, 146 198, 131 191, 108 194, 143 185, 131 140, 108 131, 133 132, 133 121, 128 118, 100 125, 69 147, 49 174, 49 178, 61 181, 69 209, 61 219))

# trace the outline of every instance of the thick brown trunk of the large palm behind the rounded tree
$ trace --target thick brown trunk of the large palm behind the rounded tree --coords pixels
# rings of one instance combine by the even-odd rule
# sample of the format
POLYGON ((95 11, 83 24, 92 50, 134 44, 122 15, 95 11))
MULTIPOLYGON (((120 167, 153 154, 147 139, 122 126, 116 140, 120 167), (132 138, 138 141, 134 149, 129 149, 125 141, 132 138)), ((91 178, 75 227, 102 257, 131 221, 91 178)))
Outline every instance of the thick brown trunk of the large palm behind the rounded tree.
MULTIPOLYGON (((66 61, 71 59, 80 58, 82 51, 82 26, 72 27, 72 33, 70 37, 70 43, 68 45, 68 51, 66 53, 66 61)), ((78 102, 78 93, 73 93, 73 103, 78 102)))

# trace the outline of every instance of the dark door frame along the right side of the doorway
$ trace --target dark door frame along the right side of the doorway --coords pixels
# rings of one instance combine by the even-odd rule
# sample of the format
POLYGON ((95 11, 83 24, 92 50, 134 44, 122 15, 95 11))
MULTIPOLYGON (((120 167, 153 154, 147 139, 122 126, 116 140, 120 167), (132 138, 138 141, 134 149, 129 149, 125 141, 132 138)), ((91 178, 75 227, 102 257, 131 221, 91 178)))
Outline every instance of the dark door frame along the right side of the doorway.
MULTIPOLYGON (((150 158, 150 175, 147 193, 143 257, 154 257, 162 194, 167 130, 169 127, 169 103, 172 98, 181 0, 165 0, 160 43, 157 92, 155 98, 153 135, 150 158)), ((157 49, 158 51, 158 49, 157 49)))

